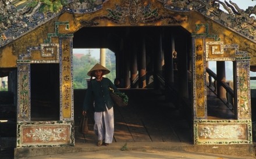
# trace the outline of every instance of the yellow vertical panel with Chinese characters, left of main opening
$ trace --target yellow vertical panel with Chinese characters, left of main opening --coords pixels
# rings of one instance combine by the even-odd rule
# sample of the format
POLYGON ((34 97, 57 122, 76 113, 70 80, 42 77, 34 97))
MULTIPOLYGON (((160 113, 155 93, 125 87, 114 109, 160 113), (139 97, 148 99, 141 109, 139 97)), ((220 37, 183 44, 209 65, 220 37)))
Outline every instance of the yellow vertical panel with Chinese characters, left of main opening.
POLYGON ((61 38, 61 120, 73 119, 72 38, 61 38))

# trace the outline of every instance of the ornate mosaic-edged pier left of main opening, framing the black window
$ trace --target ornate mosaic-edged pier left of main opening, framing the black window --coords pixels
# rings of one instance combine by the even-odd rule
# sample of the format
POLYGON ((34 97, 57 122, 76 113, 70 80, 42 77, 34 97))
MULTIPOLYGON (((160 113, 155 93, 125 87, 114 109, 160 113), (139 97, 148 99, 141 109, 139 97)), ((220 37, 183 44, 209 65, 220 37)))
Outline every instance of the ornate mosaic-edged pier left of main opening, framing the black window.
POLYGON ((73 34, 61 34, 59 26, 62 26, 63 30, 69 30, 69 22, 56 21, 55 32, 48 33, 47 39, 44 39, 40 46, 27 47, 27 52, 20 54, 17 60, 17 149, 74 146, 73 34), (51 63, 59 64, 59 120, 31 121, 30 64, 51 63))

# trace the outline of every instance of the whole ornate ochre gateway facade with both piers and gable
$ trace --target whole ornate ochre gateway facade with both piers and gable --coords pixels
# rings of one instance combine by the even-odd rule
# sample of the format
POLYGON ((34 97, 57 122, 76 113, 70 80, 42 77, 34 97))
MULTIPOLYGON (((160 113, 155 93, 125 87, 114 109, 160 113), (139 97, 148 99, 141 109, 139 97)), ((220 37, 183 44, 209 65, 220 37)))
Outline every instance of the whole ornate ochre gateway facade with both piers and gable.
POLYGON ((0 67, 17 68, 18 148, 74 145, 73 34, 83 27, 106 26, 173 26, 188 31, 192 41, 194 144, 253 143, 249 71, 250 66, 256 66, 256 21, 251 16, 256 6, 243 10, 231 1, 206 0, 57 2, 0 3, 0 67), (56 9, 44 10, 47 5, 56 9), (220 5, 227 12, 220 10, 220 5), (232 120, 208 119, 208 61, 232 61, 236 67, 236 117, 232 120), (33 121, 31 117, 34 64, 53 64, 58 70, 53 73, 59 75, 56 120, 33 121))

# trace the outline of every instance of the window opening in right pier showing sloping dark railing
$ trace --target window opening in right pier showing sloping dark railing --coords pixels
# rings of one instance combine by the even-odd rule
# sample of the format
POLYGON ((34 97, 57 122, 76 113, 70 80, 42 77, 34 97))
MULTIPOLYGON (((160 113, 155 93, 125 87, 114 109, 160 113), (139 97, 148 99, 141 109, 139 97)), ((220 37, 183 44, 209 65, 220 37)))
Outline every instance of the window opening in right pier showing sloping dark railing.
POLYGON ((235 119, 233 62, 208 62, 207 68, 208 119, 235 119))

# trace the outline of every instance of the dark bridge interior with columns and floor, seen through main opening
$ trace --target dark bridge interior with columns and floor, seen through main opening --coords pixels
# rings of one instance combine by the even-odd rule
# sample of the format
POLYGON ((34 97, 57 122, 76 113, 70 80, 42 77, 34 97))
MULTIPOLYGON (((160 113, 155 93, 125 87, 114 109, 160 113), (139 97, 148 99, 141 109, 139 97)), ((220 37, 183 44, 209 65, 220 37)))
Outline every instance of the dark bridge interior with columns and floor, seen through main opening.
MULTIPOLYGON (((73 48, 108 48, 115 53, 116 77, 123 80, 120 91, 129 96, 129 106, 114 107, 113 142, 192 141, 189 32, 181 27, 84 27, 74 33, 73 48)), ((76 128, 85 93, 74 89, 76 128)), ((90 116, 93 131, 93 113, 90 116)), ((86 139, 95 140, 93 132, 86 139)), ((84 142, 83 136, 76 142, 84 142)))

